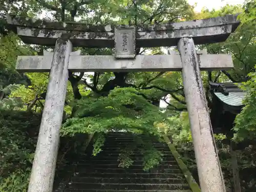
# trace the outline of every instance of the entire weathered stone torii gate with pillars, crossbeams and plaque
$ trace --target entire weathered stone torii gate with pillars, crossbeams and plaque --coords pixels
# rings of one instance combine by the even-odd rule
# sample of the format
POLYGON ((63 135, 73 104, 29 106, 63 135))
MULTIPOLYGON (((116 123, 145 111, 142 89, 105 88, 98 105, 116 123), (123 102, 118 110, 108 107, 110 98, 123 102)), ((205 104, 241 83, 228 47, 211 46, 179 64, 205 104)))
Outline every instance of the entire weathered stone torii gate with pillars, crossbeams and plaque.
POLYGON ((19 72, 50 72, 29 192, 51 192, 66 97, 68 71, 182 71, 184 92, 203 192, 225 192, 200 75, 233 67, 230 55, 196 53, 195 44, 225 41, 239 25, 237 15, 150 26, 91 26, 8 17, 27 44, 54 46, 45 56, 19 56, 19 72), (115 48, 114 56, 80 56, 73 47, 115 48), (171 55, 137 55, 136 48, 178 46, 171 55))

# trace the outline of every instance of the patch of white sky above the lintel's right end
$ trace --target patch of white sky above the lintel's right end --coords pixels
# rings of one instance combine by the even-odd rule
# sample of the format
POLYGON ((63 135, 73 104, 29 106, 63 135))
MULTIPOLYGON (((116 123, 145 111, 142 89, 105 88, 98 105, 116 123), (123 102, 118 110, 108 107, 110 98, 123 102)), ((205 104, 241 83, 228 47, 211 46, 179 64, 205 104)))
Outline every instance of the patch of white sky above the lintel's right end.
POLYGON ((200 10, 203 7, 206 7, 209 10, 218 9, 225 6, 226 4, 229 4, 229 5, 243 4, 244 0, 187 0, 187 2, 190 5, 194 5, 195 3, 197 3, 197 7, 195 8, 195 11, 200 12, 200 10))

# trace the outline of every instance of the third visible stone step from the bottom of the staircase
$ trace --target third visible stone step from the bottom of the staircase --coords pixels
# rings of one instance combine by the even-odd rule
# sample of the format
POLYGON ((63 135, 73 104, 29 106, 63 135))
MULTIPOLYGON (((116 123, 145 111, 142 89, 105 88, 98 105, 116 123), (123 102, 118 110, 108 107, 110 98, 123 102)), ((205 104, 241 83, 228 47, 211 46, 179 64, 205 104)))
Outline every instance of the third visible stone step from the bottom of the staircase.
POLYGON ((83 167, 81 165, 77 166, 77 170, 79 173, 115 173, 115 174, 140 174, 140 173, 172 173, 172 174, 180 174, 182 173, 179 168, 165 168, 165 169, 158 169, 152 168, 148 172, 145 172, 141 168, 95 168, 95 167, 83 167))

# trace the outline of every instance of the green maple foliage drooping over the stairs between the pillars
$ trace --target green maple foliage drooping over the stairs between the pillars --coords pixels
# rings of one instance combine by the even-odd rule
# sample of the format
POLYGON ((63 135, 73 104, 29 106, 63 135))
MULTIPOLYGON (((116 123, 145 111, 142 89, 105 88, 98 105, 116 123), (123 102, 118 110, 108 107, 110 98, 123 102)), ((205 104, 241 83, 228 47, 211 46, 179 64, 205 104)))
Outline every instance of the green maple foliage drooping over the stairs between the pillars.
MULTIPOLYGON (((76 116, 63 124, 61 134, 74 136, 77 133, 99 133, 94 143, 94 156, 104 144, 103 133, 125 130, 157 135, 156 122, 165 118, 165 114, 138 95, 134 88, 115 88, 106 97, 85 97, 77 101, 76 107, 76 116)), ((138 143, 143 142, 137 138, 134 148, 126 148, 119 155, 119 166, 128 167, 133 163, 131 155, 138 143)), ((145 155, 145 170, 158 164, 160 157, 156 150, 145 147, 143 150, 140 148, 140 151, 145 155)))

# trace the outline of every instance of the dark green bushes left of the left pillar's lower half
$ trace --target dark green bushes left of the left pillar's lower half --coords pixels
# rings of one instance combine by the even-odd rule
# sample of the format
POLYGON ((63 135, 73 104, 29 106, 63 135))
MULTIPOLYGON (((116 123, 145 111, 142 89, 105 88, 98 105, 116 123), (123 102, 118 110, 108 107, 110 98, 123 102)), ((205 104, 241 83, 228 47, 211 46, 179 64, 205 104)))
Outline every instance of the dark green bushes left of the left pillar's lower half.
POLYGON ((1 111, 0 191, 26 191, 40 119, 37 115, 1 111))

